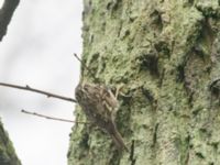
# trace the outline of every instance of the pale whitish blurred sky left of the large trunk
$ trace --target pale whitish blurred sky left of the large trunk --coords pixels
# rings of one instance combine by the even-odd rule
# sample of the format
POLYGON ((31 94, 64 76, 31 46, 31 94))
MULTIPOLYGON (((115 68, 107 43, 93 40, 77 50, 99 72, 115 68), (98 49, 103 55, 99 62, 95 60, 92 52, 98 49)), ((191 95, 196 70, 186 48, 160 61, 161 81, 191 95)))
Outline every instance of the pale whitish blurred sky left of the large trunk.
MULTIPOLYGON (((0 0, 2 4, 3 0, 0 0)), ((82 2, 22 0, 0 43, 0 81, 73 97, 79 79, 82 2)), ((74 120, 75 105, 0 87, 0 117, 23 165, 65 165, 72 123, 40 119, 21 109, 74 120)))

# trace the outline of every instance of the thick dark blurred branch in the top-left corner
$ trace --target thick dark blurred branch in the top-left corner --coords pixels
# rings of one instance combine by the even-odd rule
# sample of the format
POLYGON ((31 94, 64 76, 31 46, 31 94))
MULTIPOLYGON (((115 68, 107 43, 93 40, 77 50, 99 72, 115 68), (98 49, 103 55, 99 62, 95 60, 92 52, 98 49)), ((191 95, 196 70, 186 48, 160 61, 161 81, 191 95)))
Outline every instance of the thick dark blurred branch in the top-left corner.
POLYGON ((7 28, 11 21, 14 10, 19 6, 20 0, 4 0, 0 10, 0 41, 7 34, 7 28))

